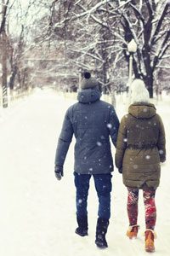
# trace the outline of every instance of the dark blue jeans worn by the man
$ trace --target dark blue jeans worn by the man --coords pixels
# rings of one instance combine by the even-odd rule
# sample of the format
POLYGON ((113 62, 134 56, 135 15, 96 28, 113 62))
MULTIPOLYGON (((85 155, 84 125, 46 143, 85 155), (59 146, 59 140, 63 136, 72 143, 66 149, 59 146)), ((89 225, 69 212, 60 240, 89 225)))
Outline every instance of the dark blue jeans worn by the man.
POLYGON ((94 177, 95 189, 99 199, 99 218, 111 217, 111 173, 107 174, 78 174, 74 172, 75 186, 77 189, 77 217, 88 215, 88 189, 90 178, 94 177))

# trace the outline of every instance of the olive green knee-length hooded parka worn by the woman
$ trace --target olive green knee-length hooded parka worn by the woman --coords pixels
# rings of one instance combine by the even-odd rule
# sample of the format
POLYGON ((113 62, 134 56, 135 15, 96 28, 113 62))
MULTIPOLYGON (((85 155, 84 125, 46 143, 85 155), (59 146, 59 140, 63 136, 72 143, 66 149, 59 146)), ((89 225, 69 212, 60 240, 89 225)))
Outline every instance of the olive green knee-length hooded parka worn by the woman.
POLYGON ((127 187, 156 189, 160 162, 166 160, 165 131, 151 103, 133 103, 122 117, 116 142, 116 167, 127 187))

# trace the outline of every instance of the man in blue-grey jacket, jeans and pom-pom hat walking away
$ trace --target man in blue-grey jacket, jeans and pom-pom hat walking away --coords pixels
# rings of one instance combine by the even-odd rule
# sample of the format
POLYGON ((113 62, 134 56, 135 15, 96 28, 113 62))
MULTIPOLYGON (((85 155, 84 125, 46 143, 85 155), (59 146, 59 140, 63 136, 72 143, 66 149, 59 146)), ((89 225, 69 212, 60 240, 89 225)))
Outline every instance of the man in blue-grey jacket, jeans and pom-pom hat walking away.
POLYGON ((119 120, 115 109, 100 100, 99 83, 84 73, 78 102, 65 113, 62 131, 55 155, 55 176, 63 177, 63 165, 72 136, 76 137, 74 176, 77 189, 77 224, 76 233, 88 236, 88 189, 90 178, 94 177, 95 189, 99 198, 99 218, 96 227, 97 247, 105 248, 105 234, 111 217, 111 172, 113 160, 111 143, 116 147, 119 120))

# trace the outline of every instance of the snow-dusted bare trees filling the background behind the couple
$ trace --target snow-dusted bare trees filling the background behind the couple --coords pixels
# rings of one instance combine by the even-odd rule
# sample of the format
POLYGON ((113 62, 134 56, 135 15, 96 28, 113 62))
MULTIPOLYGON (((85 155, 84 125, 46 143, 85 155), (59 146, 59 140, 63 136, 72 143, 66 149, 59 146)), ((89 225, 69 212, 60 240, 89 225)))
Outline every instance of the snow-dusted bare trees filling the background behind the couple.
POLYGON ((3 87, 75 91, 89 69, 104 93, 121 93, 128 82, 127 44, 134 39, 133 78, 144 79, 150 97, 169 91, 169 1, 0 1, 3 87))

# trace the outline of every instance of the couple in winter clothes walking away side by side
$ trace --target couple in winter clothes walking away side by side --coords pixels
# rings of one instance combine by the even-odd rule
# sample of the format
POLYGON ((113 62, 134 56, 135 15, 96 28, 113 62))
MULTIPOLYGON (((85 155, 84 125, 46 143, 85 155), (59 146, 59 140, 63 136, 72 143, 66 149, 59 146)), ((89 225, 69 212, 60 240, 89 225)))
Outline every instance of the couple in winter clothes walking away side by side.
POLYGON ((145 208, 145 250, 153 252, 156 225, 156 188, 160 182, 160 162, 166 159, 165 132, 161 117, 150 103, 144 82, 132 84, 132 102, 121 123, 115 109, 100 100, 99 83, 84 73, 78 102, 65 113, 55 154, 55 176, 63 177, 63 166, 73 135, 76 137, 74 180, 76 186, 77 229, 88 236, 88 189, 90 178, 99 199, 95 244, 108 247, 105 235, 111 217, 111 177, 113 160, 111 141, 116 148, 116 167, 127 187, 127 236, 137 237, 139 189, 143 190, 145 208))

